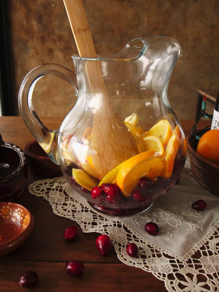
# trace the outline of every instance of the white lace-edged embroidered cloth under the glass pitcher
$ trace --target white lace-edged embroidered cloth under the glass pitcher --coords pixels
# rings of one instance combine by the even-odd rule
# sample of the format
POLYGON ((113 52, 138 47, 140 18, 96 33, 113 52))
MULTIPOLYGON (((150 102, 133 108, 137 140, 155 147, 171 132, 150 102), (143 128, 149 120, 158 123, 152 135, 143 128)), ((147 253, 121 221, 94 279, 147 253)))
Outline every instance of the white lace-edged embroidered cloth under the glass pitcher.
POLYGON ((83 232, 109 235, 120 261, 151 272, 168 291, 219 291, 219 198, 203 189, 189 168, 149 210, 126 218, 94 210, 64 177, 36 181, 29 192, 44 197, 56 215, 76 221, 83 232), (207 202, 207 208, 198 212, 191 204, 199 199, 207 202), (158 224, 159 235, 144 231, 149 221, 158 224), (126 253, 130 242, 139 247, 137 258, 126 253))

